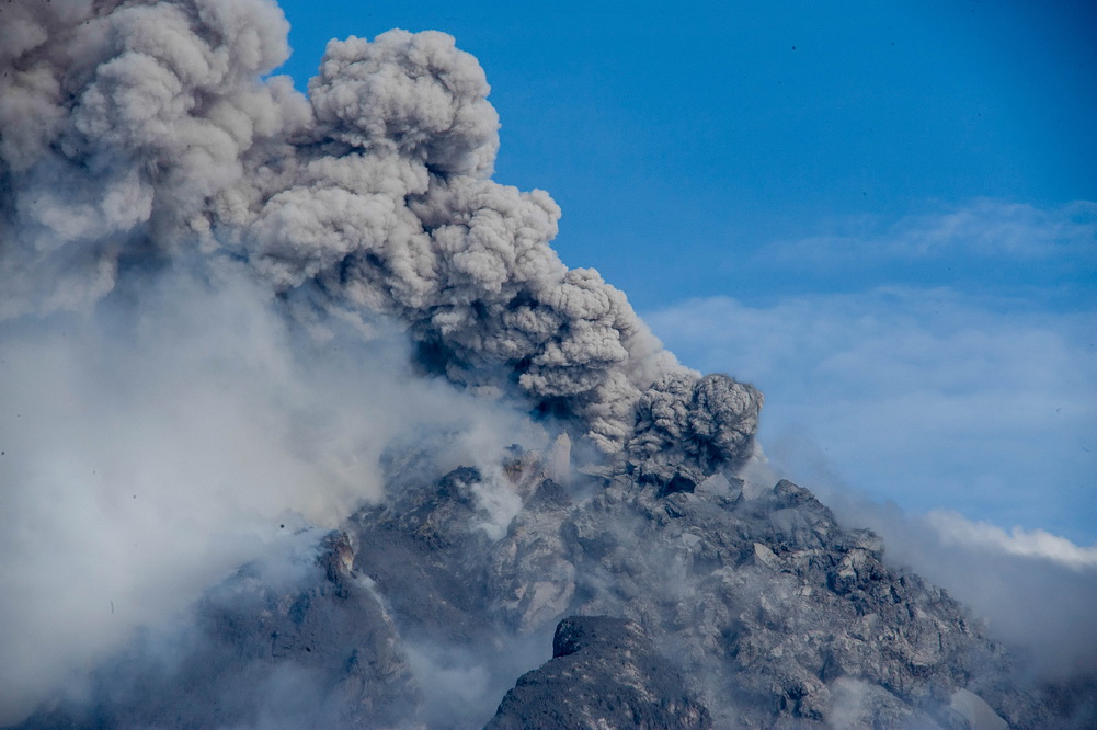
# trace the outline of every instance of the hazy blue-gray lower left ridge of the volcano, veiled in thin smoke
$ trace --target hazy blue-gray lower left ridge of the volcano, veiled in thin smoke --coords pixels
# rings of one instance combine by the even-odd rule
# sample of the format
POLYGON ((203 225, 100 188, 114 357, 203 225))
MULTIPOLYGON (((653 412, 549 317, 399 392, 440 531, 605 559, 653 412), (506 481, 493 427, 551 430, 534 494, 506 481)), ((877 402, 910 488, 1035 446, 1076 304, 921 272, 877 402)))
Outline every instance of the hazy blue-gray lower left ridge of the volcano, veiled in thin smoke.
POLYGON ((92 700, 23 728, 397 728, 421 695, 399 637, 351 570, 343 532, 295 564, 253 563, 183 633, 146 633, 95 674, 92 700))

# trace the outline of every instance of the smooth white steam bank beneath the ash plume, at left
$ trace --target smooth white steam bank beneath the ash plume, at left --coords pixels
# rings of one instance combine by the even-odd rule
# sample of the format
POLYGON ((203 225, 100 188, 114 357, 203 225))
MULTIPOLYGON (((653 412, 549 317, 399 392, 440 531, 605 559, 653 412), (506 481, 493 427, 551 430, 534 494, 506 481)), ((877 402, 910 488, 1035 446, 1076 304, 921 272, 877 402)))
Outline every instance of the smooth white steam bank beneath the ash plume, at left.
POLYGON ((304 525, 380 499, 389 445, 445 471, 544 443, 410 375, 403 337, 317 345, 247 279, 154 284, 137 313, 0 323, 0 725, 304 525))

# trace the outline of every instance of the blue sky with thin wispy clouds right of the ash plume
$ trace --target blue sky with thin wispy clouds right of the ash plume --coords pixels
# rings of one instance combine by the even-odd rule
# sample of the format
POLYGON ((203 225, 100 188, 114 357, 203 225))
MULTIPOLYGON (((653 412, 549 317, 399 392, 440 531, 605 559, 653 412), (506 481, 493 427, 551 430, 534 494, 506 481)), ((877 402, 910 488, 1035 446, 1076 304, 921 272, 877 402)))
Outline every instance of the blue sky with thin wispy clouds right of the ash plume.
POLYGON ((454 35, 496 179, 808 486, 1097 542, 1094 3, 281 5, 302 89, 330 37, 454 35))

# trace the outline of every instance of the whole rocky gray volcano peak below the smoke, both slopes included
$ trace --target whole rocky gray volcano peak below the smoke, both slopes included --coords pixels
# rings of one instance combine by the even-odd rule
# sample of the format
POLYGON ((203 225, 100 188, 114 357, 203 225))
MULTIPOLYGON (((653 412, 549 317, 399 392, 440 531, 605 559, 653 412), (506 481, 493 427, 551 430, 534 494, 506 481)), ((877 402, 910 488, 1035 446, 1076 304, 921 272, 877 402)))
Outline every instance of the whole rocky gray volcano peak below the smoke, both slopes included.
POLYGON ((1078 714, 790 482, 620 464, 564 487, 532 452, 491 476, 410 463, 293 575, 247 566, 212 591, 172 661, 138 645, 90 706, 27 727, 961 730, 1078 714), (485 497, 500 490, 517 514, 485 497))

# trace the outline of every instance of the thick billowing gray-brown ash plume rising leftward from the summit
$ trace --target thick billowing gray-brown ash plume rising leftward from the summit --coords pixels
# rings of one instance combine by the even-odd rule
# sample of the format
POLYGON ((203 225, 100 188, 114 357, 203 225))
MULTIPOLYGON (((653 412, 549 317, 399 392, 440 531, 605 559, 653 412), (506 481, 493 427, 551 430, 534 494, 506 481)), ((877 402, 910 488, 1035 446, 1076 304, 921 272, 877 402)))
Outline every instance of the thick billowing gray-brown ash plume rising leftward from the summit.
POLYGON ((498 119, 450 36, 331 42, 306 98, 261 79, 289 53, 263 0, 0 12, 0 316, 242 261, 294 317, 393 317, 428 372, 602 452, 708 471, 749 449, 761 396, 679 366, 620 291, 561 262, 546 193, 488 178, 498 119))

